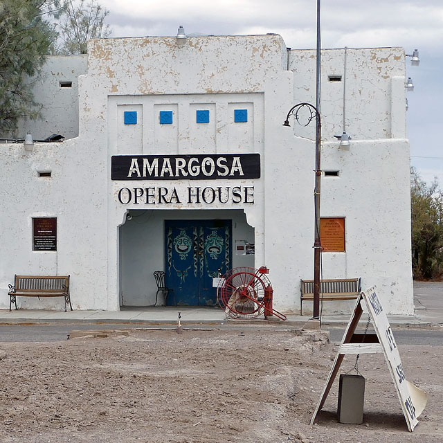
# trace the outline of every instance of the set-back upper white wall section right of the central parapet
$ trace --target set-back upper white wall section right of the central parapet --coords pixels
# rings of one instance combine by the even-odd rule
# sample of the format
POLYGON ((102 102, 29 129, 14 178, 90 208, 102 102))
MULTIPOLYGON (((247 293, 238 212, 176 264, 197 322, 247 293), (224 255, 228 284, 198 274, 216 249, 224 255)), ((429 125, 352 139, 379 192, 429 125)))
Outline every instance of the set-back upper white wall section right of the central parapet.
MULTIPOLYGON (((321 51, 323 140, 333 141, 334 135, 343 133, 344 86, 347 134, 355 140, 405 138, 404 60, 404 48, 347 48, 345 73, 344 48, 321 51), (341 82, 331 82, 329 76, 341 76, 341 82), (395 113, 392 113, 392 102, 398 105, 395 113), (397 125, 403 129, 400 134, 397 125)), ((316 51, 289 51, 289 70, 294 73, 293 104, 315 104, 316 51)), ((311 138, 308 128, 294 126, 293 129, 299 136, 311 138)))

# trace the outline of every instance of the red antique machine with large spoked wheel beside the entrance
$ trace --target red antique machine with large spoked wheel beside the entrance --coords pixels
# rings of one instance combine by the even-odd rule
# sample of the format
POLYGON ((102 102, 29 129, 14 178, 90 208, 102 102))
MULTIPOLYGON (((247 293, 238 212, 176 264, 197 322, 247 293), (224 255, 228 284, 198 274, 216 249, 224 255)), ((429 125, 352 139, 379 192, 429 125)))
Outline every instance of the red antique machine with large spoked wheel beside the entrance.
POLYGON ((230 269, 219 280, 217 289, 221 309, 230 318, 255 318, 262 314, 286 316, 272 308, 272 284, 267 277, 269 269, 239 267, 230 269))

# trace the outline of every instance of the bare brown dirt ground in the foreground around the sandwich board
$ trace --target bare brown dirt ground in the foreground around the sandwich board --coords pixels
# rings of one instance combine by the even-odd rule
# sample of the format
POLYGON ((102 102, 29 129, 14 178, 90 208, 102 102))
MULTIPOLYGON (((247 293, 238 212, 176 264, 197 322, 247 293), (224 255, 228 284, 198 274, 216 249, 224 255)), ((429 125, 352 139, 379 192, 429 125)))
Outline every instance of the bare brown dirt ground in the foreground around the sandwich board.
MULTIPOLYGON (((413 433, 382 354, 359 359, 362 425, 337 422, 336 381, 309 426, 338 348, 323 333, 298 334, 132 330, 1 343, 0 441, 443 442, 442 347, 399 346, 406 377, 429 395, 413 433)), ((354 363, 348 356, 341 372, 354 363)))

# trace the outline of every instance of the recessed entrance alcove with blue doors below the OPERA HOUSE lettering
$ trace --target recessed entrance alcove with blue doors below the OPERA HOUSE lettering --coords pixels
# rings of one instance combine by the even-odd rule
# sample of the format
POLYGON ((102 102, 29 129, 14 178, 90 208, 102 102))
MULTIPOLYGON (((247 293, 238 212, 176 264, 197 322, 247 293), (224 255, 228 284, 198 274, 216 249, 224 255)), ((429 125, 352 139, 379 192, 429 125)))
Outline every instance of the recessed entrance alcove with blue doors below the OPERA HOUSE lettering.
POLYGON ((174 289, 167 305, 215 305, 218 269, 255 266, 251 247, 236 249, 255 242, 243 210, 129 210, 119 237, 122 307, 154 306, 154 271, 174 289))

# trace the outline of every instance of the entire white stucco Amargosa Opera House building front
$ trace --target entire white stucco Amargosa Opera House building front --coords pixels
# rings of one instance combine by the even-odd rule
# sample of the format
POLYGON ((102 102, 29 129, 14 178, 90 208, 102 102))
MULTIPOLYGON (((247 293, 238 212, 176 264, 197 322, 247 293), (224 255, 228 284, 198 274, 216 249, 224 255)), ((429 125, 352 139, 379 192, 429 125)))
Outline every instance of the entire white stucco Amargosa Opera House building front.
MULTIPOLYGON (((377 284, 390 313, 412 314, 405 53, 349 48, 346 71, 344 55, 322 51, 323 278, 377 284), (349 149, 334 138, 343 124, 349 149)), ((71 275, 74 309, 150 306, 158 270, 168 305, 215 305, 219 269, 266 265, 275 308, 299 313, 315 124, 282 123, 315 103, 315 65, 279 35, 96 39, 87 56, 49 57, 35 86, 44 119, 19 137, 66 140, 0 146, 0 308, 15 274, 71 275)))

